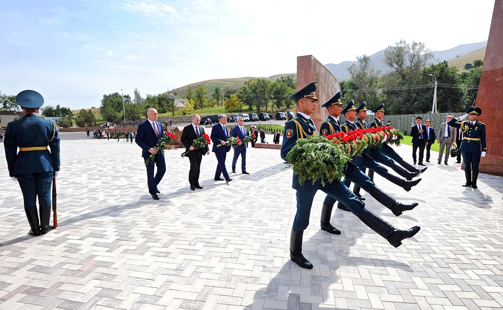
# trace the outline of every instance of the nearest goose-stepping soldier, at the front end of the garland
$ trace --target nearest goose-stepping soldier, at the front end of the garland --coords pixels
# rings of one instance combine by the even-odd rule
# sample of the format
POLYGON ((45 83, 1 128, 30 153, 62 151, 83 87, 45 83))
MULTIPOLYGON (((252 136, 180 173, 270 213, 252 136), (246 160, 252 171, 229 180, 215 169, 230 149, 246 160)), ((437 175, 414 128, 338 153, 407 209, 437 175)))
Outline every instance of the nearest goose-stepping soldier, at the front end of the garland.
MULTIPOLYGON (((281 157, 283 159, 286 159, 288 152, 294 147, 298 139, 311 138, 317 134, 314 122, 310 118, 310 115, 314 113, 316 101, 318 100, 315 95, 317 84, 317 82, 311 82, 290 96, 290 99, 295 101, 298 112, 295 118, 285 124, 285 138, 281 146, 281 157)), ((319 179, 314 184, 310 181, 300 184, 299 176, 294 173, 292 187, 297 191, 297 213, 290 236, 290 258, 302 268, 313 268, 313 265, 302 255, 302 237, 304 230, 309 225, 311 205, 318 189, 342 201, 363 223, 385 238, 394 247, 400 246, 403 239, 414 236, 420 230, 419 226, 414 226, 408 230, 395 228, 365 208, 365 204, 339 181, 325 183, 324 186, 319 179)), ((324 218, 326 217, 322 215, 322 221, 324 218)), ((328 223, 328 225, 330 224, 328 223)), ((338 234, 338 230, 333 228, 330 233, 338 234)))

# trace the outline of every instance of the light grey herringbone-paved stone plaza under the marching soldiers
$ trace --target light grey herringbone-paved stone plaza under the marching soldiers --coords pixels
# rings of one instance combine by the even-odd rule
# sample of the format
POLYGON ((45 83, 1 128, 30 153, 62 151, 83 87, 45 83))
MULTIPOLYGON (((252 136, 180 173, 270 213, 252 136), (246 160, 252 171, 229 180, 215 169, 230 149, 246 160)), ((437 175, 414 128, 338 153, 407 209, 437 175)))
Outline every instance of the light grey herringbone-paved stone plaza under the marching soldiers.
MULTIPOLYGON (((410 160, 411 147, 397 150, 410 160)), ((399 248, 341 210, 331 222, 342 234, 321 231, 319 191, 306 270, 289 259, 295 190, 279 150, 249 148, 251 174, 231 174, 229 184, 213 180, 216 159, 205 156, 196 191, 181 153, 166 151, 155 201, 136 144, 62 140, 59 227, 32 237, 2 146, 0 309, 503 308, 503 177, 461 187, 460 165, 437 165, 435 152, 410 192, 376 175, 399 201, 420 202, 394 217, 364 194, 394 225, 421 225, 399 248)))

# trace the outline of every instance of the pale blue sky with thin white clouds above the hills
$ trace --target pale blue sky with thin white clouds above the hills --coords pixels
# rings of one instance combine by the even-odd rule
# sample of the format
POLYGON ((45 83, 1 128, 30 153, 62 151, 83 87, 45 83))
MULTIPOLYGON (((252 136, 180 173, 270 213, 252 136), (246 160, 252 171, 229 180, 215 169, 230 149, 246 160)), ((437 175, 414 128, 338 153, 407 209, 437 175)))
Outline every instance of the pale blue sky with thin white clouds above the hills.
MULTIPOLYGON (((401 39, 432 51, 487 40, 494 0, 0 0, 0 91, 99 107, 208 79, 354 61, 401 39)), ((337 76, 336 76, 337 78, 337 76)))

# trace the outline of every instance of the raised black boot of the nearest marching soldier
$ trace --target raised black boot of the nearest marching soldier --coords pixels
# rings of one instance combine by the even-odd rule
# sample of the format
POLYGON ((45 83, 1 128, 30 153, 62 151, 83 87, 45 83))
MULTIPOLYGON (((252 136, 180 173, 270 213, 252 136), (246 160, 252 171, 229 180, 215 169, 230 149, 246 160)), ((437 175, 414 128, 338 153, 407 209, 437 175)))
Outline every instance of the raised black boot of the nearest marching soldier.
POLYGON ((362 212, 358 215, 358 218, 379 236, 385 238, 389 244, 395 248, 398 248, 402 244, 403 239, 414 236, 421 229, 419 226, 414 226, 407 230, 398 229, 384 221, 368 208, 363 208, 362 212))

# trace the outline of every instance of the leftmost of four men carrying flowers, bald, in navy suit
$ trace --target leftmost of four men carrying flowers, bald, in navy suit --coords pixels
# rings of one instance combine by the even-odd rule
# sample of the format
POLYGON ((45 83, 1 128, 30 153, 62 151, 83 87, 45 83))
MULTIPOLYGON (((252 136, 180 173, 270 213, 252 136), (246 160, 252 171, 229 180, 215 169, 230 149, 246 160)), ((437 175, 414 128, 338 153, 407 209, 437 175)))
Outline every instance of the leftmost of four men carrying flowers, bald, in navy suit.
POLYGON ((152 198, 159 200, 160 193, 157 189, 162 176, 166 172, 166 163, 164 162, 164 153, 154 149, 155 145, 160 141, 162 134, 162 125, 157 122, 157 110, 150 108, 147 110, 147 120, 138 125, 135 142, 142 149, 141 156, 146 161, 150 154, 155 155, 154 161, 146 164, 147 168, 147 184, 148 192, 152 198), (154 163, 157 166, 157 172, 154 176, 154 163))

